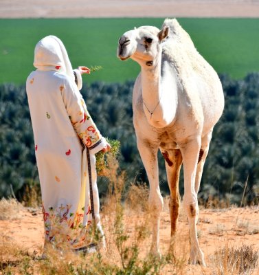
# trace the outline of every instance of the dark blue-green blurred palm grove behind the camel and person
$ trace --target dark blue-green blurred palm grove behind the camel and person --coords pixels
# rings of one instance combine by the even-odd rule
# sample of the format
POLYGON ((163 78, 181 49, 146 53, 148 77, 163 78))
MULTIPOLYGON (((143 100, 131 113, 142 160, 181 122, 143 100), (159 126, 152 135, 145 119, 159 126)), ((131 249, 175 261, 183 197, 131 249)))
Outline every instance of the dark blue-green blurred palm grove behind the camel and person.
MULTIPOLYGON (((258 203, 259 188, 259 74, 244 80, 221 76, 225 110, 214 127, 210 153, 205 162, 200 197, 240 201, 245 181, 245 201, 258 203), (210 195, 207 194, 210 190, 210 195)), ((120 168, 126 170, 126 188, 133 181, 147 182, 137 151, 132 121, 133 82, 85 85, 82 95, 101 133, 120 141, 120 168)), ((25 184, 38 184, 30 112, 24 86, 0 85, 0 197, 23 197, 25 184)), ((159 153, 161 192, 168 193, 164 160, 159 153)), ((106 179, 99 177, 100 195, 106 193, 106 179)), ((183 177, 180 190, 183 193, 183 177)))

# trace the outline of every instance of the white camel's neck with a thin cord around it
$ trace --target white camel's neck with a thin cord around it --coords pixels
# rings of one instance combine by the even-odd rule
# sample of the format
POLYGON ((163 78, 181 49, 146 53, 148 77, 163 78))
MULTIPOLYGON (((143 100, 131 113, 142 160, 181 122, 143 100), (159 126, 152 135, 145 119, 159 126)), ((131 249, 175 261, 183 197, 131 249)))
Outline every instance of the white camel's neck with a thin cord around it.
POLYGON ((143 108, 148 122, 162 128, 172 123, 177 109, 174 70, 160 55, 152 67, 142 66, 143 108))

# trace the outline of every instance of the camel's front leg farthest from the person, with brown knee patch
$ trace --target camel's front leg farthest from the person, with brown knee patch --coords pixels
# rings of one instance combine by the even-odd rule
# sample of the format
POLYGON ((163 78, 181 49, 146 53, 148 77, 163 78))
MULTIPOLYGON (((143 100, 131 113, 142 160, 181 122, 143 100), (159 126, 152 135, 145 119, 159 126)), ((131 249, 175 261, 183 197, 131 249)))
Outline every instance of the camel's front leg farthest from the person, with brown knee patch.
POLYGON ((195 191, 196 168, 201 149, 201 138, 194 137, 181 144, 183 155, 184 196, 183 207, 188 217, 190 230, 190 263, 205 265, 204 255, 199 247, 196 231, 196 215, 199 213, 197 194, 195 191))

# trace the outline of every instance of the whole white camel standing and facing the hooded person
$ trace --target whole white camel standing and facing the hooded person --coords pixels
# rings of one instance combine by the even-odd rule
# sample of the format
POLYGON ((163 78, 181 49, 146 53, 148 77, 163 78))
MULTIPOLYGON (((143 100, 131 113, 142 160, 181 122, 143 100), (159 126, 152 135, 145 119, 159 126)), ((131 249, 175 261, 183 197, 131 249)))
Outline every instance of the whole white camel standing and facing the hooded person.
POLYGON ((196 232, 197 193, 212 130, 224 108, 221 81, 176 19, 166 19, 161 30, 142 26, 125 32, 118 41, 117 57, 122 61, 131 58, 141 67, 133 88, 133 124, 150 186, 148 202, 153 212, 150 252, 161 255, 159 223, 164 202, 159 189, 157 153, 160 150, 170 188, 170 251, 174 255, 180 205, 179 174, 183 164, 189 262, 205 265, 196 232))

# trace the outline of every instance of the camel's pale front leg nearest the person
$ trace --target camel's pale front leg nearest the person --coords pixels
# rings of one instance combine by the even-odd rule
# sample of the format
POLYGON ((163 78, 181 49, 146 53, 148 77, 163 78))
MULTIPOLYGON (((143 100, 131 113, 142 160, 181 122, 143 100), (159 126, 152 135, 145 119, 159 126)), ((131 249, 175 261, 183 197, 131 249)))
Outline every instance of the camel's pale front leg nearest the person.
POLYGON ((151 220, 153 221, 153 239, 151 253, 160 256, 159 224, 161 211, 163 210, 163 198, 161 196, 159 188, 157 163, 158 146, 151 144, 147 140, 141 140, 140 138, 137 138, 137 148, 146 169, 150 186, 148 202, 150 206, 151 220))

